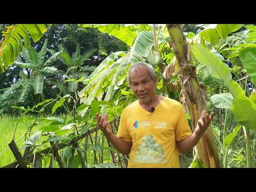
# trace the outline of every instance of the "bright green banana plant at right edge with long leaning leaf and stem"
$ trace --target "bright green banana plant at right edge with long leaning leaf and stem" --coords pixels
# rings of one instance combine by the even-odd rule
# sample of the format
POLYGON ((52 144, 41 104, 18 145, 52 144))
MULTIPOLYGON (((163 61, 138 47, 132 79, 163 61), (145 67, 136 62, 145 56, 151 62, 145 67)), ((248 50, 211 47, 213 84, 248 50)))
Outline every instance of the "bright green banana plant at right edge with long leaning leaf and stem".
MULTIPOLYGON (((198 43, 195 43, 191 49, 196 59, 209 68, 211 75, 222 80, 234 98, 231 104, 231 111, 236 121, 243 126, 246 138, 247 167, 252 167, 249 130, 256 131, 256 104, 252 99, 253 97, 248 98, 245 96, 242 87, 232 79, 227 65, 215 57, 209 50, 198 43)), ((254 74, 255 69, 250 69, 252 69, 250 74, 254 74)))

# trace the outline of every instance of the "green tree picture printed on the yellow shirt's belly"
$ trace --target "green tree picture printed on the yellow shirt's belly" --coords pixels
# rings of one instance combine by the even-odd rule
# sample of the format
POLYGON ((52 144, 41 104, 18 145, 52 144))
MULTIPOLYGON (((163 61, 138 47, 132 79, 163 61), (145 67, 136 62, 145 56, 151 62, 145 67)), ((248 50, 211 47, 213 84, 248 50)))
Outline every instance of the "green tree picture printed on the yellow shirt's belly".
POLYGON ((148 134, 141 138, 134 162, 137 163, 166 163, 165 153, 162 145, 156 143, 153 135, 148 134))

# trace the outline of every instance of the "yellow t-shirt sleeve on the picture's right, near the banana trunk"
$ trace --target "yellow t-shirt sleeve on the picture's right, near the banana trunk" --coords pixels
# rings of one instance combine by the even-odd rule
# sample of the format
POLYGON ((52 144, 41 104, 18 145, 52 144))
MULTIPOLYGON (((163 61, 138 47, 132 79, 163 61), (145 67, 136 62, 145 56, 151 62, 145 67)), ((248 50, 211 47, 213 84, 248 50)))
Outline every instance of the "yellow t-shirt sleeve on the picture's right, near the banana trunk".
POLYGON ((191 129, 188 125, 188 121, 185 115, 185 111, 183 109, 183 106, 180 106, 180 118, 178 119, 178 123, 175 129, 175 139, 176 141, 181 141, 182 139, 185 139, 189 135, 191 135, 191 129))

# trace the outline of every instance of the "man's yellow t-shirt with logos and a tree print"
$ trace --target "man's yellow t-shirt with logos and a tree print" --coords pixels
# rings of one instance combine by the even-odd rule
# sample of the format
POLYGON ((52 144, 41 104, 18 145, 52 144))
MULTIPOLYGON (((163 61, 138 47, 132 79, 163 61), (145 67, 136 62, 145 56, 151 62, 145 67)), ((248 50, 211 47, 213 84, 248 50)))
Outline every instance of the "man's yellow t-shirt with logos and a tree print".
POLYGON ((175 141, 191 135, 183 106, 164 97, 153 113, 139 101, 127 106, 121 115, 117 137, 132 141, 128 167, 179 167, 175 141))

